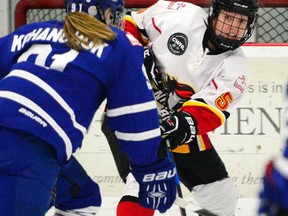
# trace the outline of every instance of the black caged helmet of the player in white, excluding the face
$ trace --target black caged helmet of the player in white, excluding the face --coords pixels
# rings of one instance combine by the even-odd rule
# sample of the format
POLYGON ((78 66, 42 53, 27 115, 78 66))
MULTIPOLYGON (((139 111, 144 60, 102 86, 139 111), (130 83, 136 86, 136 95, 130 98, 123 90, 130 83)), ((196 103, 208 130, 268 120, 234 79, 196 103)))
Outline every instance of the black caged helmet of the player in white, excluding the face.
POLYGON ((251 37, 257 20, 257 11, 257 0, 213 0, 207 24, 209 40, 218 50, 235 50, 251 37), (246 31, 240 40, 215 35, 213 19, 218 17, 221 10, 248 16, 246 31))

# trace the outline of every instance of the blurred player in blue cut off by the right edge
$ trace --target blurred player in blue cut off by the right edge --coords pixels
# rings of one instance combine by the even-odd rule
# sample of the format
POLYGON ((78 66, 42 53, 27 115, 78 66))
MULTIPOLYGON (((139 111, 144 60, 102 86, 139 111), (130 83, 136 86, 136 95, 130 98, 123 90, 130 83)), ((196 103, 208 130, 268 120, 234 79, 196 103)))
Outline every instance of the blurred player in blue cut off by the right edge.
POLYGON ((284 151, 266 167, 260 193, 261 216, 288 216, 288 85, 285 93, 282 141, 284 151))

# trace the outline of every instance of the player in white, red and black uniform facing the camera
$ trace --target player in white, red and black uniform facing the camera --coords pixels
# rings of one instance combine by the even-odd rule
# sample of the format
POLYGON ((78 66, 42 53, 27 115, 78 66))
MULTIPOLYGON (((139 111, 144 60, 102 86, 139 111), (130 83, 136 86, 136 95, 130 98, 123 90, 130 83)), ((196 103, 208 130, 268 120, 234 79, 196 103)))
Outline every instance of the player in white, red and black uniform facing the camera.
MULTIPOLYGON (((200 206, 221 216, 234 215, 238 195, 208 132, 223 125, 243 97, 247 67, 239 47, 253 32, 257 10, 256 0, 213 0, 208 15, 190 3, 158 1, 125 22, 125 30, 155 55, 157 69, 148 77, 180 180, 200 206)), ((112 151, 117 148, 109 144, 112 151)), ((115 161, 126 191, 117 215, 153 215, 137 205, 138 186, 127 177, 129 162, 119 156, 115 161)))

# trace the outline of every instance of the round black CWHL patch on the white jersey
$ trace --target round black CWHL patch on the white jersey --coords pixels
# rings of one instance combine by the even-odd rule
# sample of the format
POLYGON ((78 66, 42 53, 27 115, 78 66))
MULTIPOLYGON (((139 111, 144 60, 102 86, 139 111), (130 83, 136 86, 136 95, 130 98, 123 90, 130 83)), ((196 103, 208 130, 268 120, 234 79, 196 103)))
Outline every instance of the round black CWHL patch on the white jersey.
POLYGON ((183 33, 175 33, 167 42, 168 49, 174 55, 183 55, 188 46, 188 37, 183 33))

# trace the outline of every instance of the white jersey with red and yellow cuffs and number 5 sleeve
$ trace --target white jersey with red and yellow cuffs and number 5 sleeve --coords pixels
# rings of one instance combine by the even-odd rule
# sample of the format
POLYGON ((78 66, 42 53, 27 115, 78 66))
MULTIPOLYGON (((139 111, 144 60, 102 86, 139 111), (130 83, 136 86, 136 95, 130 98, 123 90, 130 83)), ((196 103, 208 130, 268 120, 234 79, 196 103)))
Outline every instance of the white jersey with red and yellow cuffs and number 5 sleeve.
POLYGON ((203 48, 207 13, 190 3, 158 1, 126 20, 142 38, 133 30, 131 34, 142 42, 143 36, 149 39, 158 69, 166 74, 166 106, 192 114, 199 135, 222 125, 245 90, 247 66, 241 48, 218 54, 203 48))

